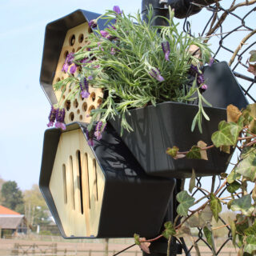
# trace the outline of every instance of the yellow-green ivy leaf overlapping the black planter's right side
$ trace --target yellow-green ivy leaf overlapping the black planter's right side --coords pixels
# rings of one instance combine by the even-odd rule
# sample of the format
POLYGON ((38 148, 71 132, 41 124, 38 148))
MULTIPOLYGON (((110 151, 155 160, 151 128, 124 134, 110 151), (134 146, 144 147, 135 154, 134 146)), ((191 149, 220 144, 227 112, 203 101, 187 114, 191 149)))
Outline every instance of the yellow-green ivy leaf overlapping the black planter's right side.
MULTIPOLYGON (((234 125, 236 125, 234 123, 234 125)), ((214 143, 214 146, 234 146, 237 142, 237 139, 234 138, 234 125, 226 121, 222 121, 218 124, 218 131, 215 131, 211 136, 211 140, 214 143), (231 128, 233 133, 231 133, 231 128)))

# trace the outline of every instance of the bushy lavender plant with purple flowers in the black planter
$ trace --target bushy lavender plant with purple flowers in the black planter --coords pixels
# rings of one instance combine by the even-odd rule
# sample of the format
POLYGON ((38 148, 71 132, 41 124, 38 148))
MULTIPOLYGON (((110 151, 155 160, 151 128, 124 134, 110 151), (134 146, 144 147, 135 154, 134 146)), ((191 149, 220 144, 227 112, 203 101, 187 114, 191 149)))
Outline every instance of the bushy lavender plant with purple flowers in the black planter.
MULTIPOLYGON (((126 16, 118 6, 114 6, 114 10, 108 10, 98 18, 106 20, 106 29, 98 30, 98 19, 90 21, 89 25, 94 28, 94 33, 88 38, 90 43, 66 57, 62 70, 70 76, 57 82, 54 90, 65 91, 71 84, 73 89, 67 98, 70 101, 77 94, 87 98, 90 95, 89 84, 105 92, 101 106, 90 114, 88 130, 95 128, 97 138, 101 138, 99 134, 110 118, 120 118, 122 130, 131 131, 126 122, 130 109, 156 106, 166 101, 196 101, 198 114, 192 130, 198 124, 202 131, 202 116, 209 120, 202 107, 202 102, 206 102, 202 92, 207 86, 200 70, 200 66, 210 60, 208 46, 202 38, 193 38, 178 31, 173 10, 170 10, 170 19, 167 20, 170 26, 152 26, 152 14, 150 8, 148 22, 144 22, 140 14, 126 16), (190 46, 198 47, 200 58, 191 53, 190 46), (79 74, 74 77, 72 74, 78 67, 79 74), (189 74, 194 75, 191 84, 189 74), (96 121, 97 126, 94 125, 96 121)), ((206 104, 210 105, 209 102, 206 104)), ((63 106, 61 97, 55 108, 63 106)))

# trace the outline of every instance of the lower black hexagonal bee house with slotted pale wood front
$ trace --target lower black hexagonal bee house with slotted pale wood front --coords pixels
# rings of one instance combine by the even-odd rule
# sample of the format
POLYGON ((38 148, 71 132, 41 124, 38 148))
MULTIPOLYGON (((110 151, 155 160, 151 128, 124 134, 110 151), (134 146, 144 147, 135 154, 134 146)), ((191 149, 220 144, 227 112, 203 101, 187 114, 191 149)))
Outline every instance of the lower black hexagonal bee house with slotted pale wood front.
POLYGON ((65 238, 154 237, 174 185, 146 175, 110 125, 94 146, 82 123, 46 130, 39 186, 65 238))

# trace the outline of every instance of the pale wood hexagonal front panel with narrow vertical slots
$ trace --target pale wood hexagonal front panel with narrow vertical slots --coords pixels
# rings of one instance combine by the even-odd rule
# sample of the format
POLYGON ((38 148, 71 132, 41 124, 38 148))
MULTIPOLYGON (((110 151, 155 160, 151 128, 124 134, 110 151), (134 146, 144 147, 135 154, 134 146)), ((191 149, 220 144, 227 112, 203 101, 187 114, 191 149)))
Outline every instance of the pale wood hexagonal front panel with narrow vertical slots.
POLYGON ((82 131, 62 133, 50 177, 50 192, 66 236, 97 236, 104 186, 104 174, 82 131), (82 202, 78 150, 81 154, 82 202), (66 166, 66 202, 63 165, 66 166))

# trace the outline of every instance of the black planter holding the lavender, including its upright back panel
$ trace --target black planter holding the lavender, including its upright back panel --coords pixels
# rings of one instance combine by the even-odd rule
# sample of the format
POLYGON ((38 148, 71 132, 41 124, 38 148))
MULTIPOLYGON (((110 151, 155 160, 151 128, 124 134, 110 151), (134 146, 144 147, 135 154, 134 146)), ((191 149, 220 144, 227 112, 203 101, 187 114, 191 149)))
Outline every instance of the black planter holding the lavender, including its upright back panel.
MULTIPOLYGON (((204 70, 208 90, 205 98, 214 107, 205 107, 210 122, 202 121, 200 134, 191 124, 198 106, 178 102, 164 102, 157 106, 130 110, 127 122, 134 132, 124 132, 123 142, 129 147, 147 174, 163 177, 188 178, 194 168, 197 176, 210 176, 226 171, 230 154, 211 149, 209 160, 181 158, 174 160, 166 154, 167 147, 178 146, 180 151, 190 150, 199 140, 212 144, 211 134, 218 130, 218 123, 226 119, 226 106, 234 104, 240 109, 247 101, 226 62, 214 64, 204 70)), ((120 122, 110 121, 120 134, 120 122)))

